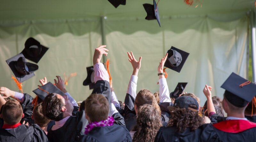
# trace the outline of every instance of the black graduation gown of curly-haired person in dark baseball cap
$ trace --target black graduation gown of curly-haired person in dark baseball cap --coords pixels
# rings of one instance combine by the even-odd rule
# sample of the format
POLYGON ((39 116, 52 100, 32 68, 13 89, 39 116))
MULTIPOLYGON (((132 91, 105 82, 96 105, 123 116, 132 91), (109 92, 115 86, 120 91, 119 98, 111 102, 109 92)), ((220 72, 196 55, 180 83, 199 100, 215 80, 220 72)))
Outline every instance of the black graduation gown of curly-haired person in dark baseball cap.
POLYGON ((190 128, 183 132, 176 132, 176 126, 161 127, 155 138, 155 142, 198 142, 200 131, 191 131, 190 128))

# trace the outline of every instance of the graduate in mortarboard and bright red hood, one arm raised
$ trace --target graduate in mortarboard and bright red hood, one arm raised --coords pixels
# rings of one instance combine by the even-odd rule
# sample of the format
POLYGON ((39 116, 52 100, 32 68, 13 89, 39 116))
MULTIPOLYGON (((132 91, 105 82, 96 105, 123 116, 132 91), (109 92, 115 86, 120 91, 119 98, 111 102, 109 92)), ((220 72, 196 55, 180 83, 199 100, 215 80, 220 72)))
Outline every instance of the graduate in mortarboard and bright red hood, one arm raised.
MULTIPOLYGON (((244 117, 244 110, 255 96, 256 85, 232 73, 221 86, 225 89, 222 106, 226 119, 219 123, 205 124, 201 130, 200 141, 255 141, 256 123, 244 117)), ((209 90, 206 87, 206 90, 209 90)), ((211 92, 206 93, 208 115, 215 114, 211 92)))

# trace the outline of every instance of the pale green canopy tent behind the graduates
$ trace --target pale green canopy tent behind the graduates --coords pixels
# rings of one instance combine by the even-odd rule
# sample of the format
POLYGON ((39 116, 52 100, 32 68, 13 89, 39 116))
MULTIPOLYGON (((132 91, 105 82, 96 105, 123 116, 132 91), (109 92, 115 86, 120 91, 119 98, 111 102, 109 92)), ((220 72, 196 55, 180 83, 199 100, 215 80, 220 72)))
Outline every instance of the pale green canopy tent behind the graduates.
MULTIPOLYGON (((36 76, 23 83, 24 92, 31 95, 35 95, 32 90, 39 79, 47 77, 54 82, 55 75, 77 72, 76 77, 70 78, 67 90, 76 101, 84 100, 91 93, 88 86, 82 85, 85 67, 92 65, 94 49, 106 44, 109 54, 104 60, 110 59, 119 100, 124 101, 132 74, 126 52, 142 56, 137 92, 156 92, 157 66, 171 46, 190 55, 180 73, 167 70, 170 92, 178 82, 188 82, 185 91, 199 96, 201 104, 206 100, 202 93, 205 84, 213 87, 213 95, 222 97, 224 90, 220 86, 231 72, 248 76, 251 37, 255 45, 255 29, 251 30, 254 0, 200 2, 202 7, 197 1, 189 6, 183 0, 160 0, 159 27, 156 20, 145 20, 142 4, 153 4, 152 0, 126 0, 126 5, 117 8, 107 0, 1 1, 0 85, 18 90, 5 60, 20 53, 26 39, 34 37, 50 49, 38 63, 36 76)), ((255 58, 255 48, 252 53, 255 58)))

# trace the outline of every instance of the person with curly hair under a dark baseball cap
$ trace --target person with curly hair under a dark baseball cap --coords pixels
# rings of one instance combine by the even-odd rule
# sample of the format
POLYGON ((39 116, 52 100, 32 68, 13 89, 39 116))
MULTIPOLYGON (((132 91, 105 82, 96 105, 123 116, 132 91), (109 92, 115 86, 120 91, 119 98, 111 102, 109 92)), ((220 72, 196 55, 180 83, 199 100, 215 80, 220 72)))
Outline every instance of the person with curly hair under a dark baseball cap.
POLYGON ((198 114, 197 100, 190 96, 180 96, 169 109, 171 119, 167 127, 159 129, 155 142, 198 141, 200 133, 196 129, 204 123, 204 117, 198 114))

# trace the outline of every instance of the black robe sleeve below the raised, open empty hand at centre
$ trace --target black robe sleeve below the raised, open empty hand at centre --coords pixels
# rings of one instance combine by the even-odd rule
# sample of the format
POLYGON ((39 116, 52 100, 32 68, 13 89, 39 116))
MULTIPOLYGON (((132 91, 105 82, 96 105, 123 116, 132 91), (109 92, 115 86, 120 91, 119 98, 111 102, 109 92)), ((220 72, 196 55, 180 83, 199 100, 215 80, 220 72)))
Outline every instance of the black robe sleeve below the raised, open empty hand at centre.
POLYGON ((126 93, 124 99, 124 120, 136 116, 136 112, 134 110, 134 102, 135 98, 133 98, 130 94, 126 93))

